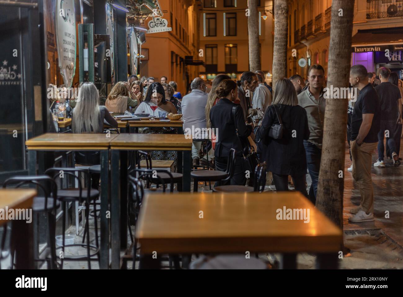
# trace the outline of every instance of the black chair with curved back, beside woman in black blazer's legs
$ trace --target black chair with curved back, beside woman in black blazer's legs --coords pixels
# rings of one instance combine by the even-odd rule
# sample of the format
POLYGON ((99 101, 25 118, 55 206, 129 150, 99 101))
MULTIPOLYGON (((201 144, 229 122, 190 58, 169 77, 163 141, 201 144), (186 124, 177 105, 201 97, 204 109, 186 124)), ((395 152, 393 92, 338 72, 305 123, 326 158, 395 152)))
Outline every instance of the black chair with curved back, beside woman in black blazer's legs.
POLYGON ((232 179, 235 171, 235 153, 234 149, 229 152, 229 158, 226 171, 219 170, 198 170, 192 171, 190 176, 193 178, 193 192, 197 192, 199 181, 221 181, 226 182, 232 179))

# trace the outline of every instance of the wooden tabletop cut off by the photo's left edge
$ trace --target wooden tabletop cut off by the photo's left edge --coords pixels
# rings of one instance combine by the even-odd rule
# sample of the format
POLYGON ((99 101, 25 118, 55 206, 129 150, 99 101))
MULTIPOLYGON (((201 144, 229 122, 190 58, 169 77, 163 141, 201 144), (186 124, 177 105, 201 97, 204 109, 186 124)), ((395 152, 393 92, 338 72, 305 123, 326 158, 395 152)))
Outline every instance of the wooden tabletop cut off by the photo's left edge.
MULTIPOLYGON (((0 209, 30 209, 36 190, 33 189, 0 189, 0 209)), ((0 226, 7 222, 5 213, 0 217, 0 226)))

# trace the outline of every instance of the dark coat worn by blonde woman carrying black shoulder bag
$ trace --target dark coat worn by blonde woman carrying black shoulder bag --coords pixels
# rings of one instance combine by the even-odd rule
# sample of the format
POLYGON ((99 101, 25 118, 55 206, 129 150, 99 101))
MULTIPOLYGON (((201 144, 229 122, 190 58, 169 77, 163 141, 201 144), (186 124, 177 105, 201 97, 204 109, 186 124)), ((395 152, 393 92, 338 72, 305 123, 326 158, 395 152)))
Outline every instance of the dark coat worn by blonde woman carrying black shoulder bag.
POLYGON ((261 139, 260 141, 263 142, 259 143, 259 147, 262 148, 260 158, 266 161, 267 171, 272 173, 306 174, 307 164, 303 140, 307 140, 310 135, 306 111, 299 105, 276 104, 276 109, 283 121, 283 137, 273 139, 268 136, 272 124, 278 124, 274 105, 270 105, 264 114, 262 126, 256 133, 256 139, 261 139))

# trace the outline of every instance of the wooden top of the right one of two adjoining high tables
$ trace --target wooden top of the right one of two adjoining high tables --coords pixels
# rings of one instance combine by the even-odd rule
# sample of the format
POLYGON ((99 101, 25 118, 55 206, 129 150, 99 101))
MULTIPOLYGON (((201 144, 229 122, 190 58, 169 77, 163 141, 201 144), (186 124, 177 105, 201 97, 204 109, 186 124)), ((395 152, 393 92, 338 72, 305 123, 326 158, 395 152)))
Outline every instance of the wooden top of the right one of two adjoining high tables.
POLYGON ((112 150, 180 150, 192 149, 192 139, 183 134, 127 134, 122 133, 110 141, 112 150))

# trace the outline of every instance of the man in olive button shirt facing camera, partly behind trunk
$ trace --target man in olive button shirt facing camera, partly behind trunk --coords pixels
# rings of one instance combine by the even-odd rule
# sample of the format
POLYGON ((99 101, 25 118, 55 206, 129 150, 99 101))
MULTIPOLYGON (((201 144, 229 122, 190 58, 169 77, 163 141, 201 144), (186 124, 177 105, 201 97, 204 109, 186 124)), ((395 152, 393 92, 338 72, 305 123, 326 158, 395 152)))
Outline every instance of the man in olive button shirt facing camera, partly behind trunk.
POLYGON ((312 184, 309 199, 316 203, 320 158, 322 157, 323 123, 326 99, 323 97, 325 71, 322 65, 312 65, 308 70, 308 87, 298 95, 298 104, 305 108, 308 118, 310 137, 304 140, 306 161, 312 184))

